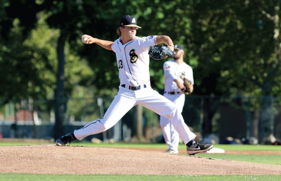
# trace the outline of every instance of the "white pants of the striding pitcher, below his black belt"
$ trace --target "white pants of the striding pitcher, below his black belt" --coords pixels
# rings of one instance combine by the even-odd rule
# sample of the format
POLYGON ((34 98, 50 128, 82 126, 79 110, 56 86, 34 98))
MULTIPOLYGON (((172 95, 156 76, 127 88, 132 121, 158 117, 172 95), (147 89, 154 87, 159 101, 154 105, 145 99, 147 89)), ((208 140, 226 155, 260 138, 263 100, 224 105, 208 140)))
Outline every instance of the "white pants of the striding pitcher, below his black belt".
POLYGON ((132 91, 119 86, 119 92, 114 97, 104 117, 90 122, 81 129, 74 130, 75 137, 82 140, 86 136, 106 131, 137 104, 170 119, 185 144, 196 137, 185 124, 183 116, 176 108, 176 104, 154 91, 150 85, 147 85, 147 88, 143 88, 143 85, 141 87, 138 91, 132 91))

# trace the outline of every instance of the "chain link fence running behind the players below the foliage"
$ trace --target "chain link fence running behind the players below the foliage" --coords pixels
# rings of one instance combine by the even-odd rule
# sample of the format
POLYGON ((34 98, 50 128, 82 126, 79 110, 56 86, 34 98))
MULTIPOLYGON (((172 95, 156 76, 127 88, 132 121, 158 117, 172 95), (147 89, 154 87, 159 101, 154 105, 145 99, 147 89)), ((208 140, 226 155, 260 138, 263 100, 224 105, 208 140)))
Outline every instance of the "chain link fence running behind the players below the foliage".
MULTIPOLYGON (((112 102, 110 97, 68 98, 63 125, 66 132, 83 127, 103 117, 112 102)), ((0 102, 3 102, 0 99, 0 102)), ((186 124, 201 138, 213 134, 249 139, 261 144, 281 138, 280 97, 211 97, 186 96, 182 115, 186 124)), ((0 107, 0 138, 51 139, 54 135, 54 100, 23 99, 0 107)), ((151 142, 163 141, 159 115, 143 109, 143 135, 151 142)), ((130 141, 136 132, 134 109, 115 126, 96 137, 101 140, 130 141)), ((63 134, 63 133, 62 133, 63 134)))

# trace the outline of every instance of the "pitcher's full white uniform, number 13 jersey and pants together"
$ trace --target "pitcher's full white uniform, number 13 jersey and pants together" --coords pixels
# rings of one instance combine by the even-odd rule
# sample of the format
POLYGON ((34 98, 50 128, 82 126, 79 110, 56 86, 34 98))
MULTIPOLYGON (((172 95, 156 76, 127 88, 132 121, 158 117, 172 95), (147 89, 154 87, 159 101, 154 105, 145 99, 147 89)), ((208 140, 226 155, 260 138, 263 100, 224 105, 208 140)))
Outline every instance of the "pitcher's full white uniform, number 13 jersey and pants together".
POLYGON ((124 45, 120 42, 121 37, 114 41, 111 48, 117 58, 120 78, 119 92, 103 118, 94 120, 74 131, 78 140, 111 128, 137 104, 171 120, 185 144, 196 137, 185 124, 176 104, 154 91, 150 86, 148 49, 149 46, 156 45, 156 37, 156 35, 135 37, 124 45))

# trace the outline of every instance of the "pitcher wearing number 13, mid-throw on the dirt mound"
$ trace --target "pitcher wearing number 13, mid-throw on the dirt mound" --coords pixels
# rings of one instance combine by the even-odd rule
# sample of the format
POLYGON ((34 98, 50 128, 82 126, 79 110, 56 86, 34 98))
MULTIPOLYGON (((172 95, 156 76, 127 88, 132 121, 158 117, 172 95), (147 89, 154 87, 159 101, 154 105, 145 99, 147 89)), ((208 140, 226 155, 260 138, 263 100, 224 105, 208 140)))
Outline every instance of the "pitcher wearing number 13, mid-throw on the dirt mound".
MULTIPOLYGON (((56 140, 56 145, 65 146, 67 143, 86 136, 101 133, 114 126, 132 107, 137 104, 171 120, 174 128, 187 145, 187 153, 193 155, 207 151, 211 144, 200 144, 194 141, 196 135, 185 124, 176 104, 154 91, 150 86, 149 55, 150 46, 164 43, 174 50, 173 41, 165 35, 137 37, 136 31, 141 28, 134 17, 127 15, 120 19, 117 34, 120 36, 113 41, 101 40, 90 35, 82 35, 85 44, 98 44, 112 50, 116 54, 119 70, 120 85, 117 95, 101 119, 94 120, 81 129, 74 130, 56 140)), ((167 58, 167 57, 166 57, 167 58)))

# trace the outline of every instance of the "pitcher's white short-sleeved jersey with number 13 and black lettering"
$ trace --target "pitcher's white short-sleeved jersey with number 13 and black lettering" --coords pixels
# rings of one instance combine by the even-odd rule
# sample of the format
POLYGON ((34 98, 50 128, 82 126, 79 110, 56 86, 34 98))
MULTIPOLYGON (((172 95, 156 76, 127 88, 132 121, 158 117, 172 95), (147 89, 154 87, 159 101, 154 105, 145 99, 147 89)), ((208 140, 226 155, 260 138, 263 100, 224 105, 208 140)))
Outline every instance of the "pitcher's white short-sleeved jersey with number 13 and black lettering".
POLYGON ((135 37, 124 45, 121 37, 114 41, 111 48, 116 53, 121 84, 138 85, 150 80, 148 49, 156 45, 156 37, 135 37))

